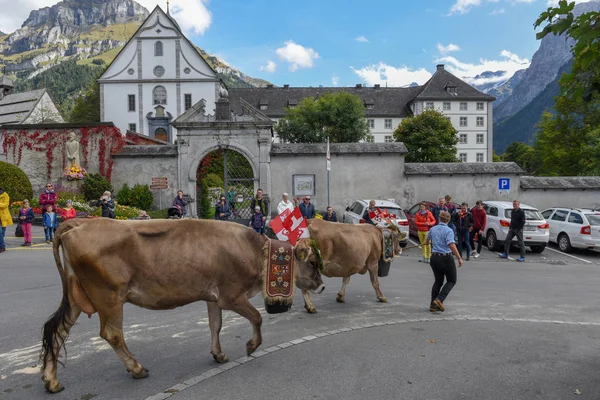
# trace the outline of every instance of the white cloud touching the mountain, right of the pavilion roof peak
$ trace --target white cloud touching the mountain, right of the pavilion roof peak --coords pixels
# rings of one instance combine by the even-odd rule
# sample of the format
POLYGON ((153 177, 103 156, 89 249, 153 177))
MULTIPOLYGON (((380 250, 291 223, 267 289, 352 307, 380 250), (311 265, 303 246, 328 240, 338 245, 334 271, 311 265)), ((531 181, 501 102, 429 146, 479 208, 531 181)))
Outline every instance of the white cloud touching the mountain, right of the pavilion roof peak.
POLYGON ((445 63, 448 71, 474 85, 505 81, 513 76, 518 70, 529 67, 529 64, 531 63, 528 59, 520 58, 518 55, 511 53, 508 50, 502 50, 500 57, 501 59, 499 60, 487 60, 482 58, 479 60, 478 64, 471 64, 461 62, 455 57, 445 56, 437 59, 436 62, 445 63), (501 76, 475 79, 477 75, 486 71, 504 71, 504 73, 501 76))

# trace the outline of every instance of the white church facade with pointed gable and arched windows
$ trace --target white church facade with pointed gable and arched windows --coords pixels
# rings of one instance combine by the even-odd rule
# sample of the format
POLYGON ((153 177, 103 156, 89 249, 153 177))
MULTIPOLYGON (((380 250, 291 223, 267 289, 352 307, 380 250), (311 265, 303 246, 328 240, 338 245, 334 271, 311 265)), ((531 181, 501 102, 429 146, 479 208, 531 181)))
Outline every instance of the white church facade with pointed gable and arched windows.
POLYGON ((98 79, 100 118, 124 133, 171 143, 171 122, 201 99, 215 104, 217 73, 184 36, 175 19, 157 6, 98 79))

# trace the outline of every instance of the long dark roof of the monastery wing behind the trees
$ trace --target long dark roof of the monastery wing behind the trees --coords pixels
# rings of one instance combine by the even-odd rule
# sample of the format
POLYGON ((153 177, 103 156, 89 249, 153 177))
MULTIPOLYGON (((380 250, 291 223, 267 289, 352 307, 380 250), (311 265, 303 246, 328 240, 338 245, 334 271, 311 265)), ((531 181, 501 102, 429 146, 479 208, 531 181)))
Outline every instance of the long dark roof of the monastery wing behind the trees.
POLYGON ((364 103, 373 108, 365 109, 368 117, 408 117, 411 115, 407 104, 419 93, 420 87, 263 87, 263 88, 231 88, 229 100, 234 113, 239 108, 239 99, 246 100, 253 107, 268 105, 260 110, 270 118, 281 118, 290 104, 298 104, 308 97, 318 97, 325 93, 347 92, 358 96, 364 103))

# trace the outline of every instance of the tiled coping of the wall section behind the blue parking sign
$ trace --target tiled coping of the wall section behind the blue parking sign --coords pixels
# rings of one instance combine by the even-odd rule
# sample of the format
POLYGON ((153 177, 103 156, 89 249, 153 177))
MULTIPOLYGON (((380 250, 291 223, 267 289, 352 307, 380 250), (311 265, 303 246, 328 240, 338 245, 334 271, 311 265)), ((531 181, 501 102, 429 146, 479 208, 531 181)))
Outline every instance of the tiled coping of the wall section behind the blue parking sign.
POLYGON ((407 163, 406 175, 515 174, 525 173, 514 162, 502 163, 407 163))

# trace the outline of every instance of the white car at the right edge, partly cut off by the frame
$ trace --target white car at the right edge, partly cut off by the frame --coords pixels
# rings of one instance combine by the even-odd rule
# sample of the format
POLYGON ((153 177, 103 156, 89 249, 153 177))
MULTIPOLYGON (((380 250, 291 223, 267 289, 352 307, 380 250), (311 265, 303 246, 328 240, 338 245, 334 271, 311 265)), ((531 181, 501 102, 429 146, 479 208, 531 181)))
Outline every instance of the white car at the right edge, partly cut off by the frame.
POLYGON ((550 224, 550 241, 560 251, 600 250, 600 210, 556 207, 542 212, 550 224))

